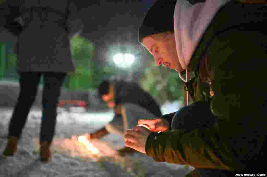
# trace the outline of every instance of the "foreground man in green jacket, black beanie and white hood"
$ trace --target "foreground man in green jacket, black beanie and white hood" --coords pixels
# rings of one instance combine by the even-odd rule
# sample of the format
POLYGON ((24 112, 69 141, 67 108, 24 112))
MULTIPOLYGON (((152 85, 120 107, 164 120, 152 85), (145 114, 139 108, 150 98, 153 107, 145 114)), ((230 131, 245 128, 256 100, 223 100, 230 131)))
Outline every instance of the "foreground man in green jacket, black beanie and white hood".
POLYGON ((125 145, 159 162, 263 173, 266 10, 264 4, 239 1, 157 1, 139 28, 139 41, 157 65, 175 69, 180 77, 191 73, 185 89, 195 102, 209 102, 217 124, 185 132, 168 130, 167 119, 174 114, 140 120, 150 130, 127 130, 125 145))

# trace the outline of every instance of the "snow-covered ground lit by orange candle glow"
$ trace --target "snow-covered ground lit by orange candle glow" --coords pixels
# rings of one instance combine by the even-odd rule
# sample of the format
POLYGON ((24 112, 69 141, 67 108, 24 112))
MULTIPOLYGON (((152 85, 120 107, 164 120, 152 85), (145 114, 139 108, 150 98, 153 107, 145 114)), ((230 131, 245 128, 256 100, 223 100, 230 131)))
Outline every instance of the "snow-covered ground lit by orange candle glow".
MULTIPOLYGON (((177 104, 167 103, 163 113, 177 110, 177 104)), ((0 153, 7 143, 7 128, 13 108, 0 108, 0 153)), ((116 149, 124 146, 123 138, 115 134, 93 140, 90 143, 99 150, 94 154, 78 141, 78 137, 91 133, 109 122, 112 112, 69 113, 58 110, 56 135, 53 141, 53 157, 49 163, 38 161, 38 137, 41 111, 32 109, 23 129, 17 153, 13 157, 0 157, 0 177, 182 177, 192 168, 155 162, 142 153, 122 157, 116 149)))

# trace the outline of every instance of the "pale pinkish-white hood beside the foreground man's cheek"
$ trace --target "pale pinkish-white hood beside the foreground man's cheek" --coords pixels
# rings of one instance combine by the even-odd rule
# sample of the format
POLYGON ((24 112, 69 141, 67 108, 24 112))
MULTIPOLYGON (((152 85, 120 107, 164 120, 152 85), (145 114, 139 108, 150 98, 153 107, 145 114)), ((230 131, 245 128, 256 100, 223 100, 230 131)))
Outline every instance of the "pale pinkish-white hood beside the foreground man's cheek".
POLYGON ((230 0, 206 0, 191 5, 178 0, 174 10, 174 35, 180 64, 186 69, 214 15, 230 0))

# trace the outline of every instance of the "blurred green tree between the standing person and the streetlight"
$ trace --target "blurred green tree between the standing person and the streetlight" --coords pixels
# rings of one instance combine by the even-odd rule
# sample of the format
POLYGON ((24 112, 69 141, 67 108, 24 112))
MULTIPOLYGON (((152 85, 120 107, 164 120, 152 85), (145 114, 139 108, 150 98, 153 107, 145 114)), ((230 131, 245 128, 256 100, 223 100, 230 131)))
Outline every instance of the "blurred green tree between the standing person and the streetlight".
POLYGON ((97 60, 93 61, 95 46, 86 38, 76 35, 70 40, 70 46, 75 71, 66 77, 64 87, 95 91, 103 79, 115 72, 115 68, 109 67, 108 63, 102 66, 97 60))

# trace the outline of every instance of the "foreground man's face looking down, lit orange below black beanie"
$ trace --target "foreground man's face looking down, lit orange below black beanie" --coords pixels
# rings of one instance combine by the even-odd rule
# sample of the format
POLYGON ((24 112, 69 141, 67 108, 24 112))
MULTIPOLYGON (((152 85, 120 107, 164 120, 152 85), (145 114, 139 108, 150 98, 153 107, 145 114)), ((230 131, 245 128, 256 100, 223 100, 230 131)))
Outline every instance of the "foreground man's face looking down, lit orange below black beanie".
POLYGON ((182 68, 176 52, 174 33, 151 35, 143 38, 143 44, 154 56, 157 66, 161 64, 170 69, 181 72, 182 68))

